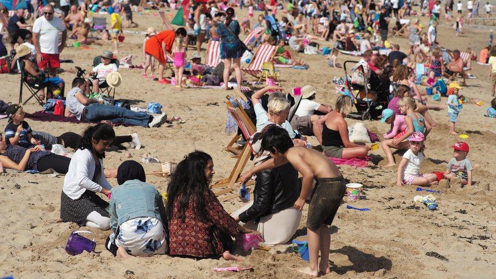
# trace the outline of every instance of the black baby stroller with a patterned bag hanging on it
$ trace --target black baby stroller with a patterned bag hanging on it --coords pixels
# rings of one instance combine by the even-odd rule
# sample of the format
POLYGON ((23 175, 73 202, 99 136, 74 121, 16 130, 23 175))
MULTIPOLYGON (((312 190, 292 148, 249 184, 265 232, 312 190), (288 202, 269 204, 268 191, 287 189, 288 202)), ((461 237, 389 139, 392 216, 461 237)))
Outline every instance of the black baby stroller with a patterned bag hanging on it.
POLYGON ((380 116, 382 111, 387 108, 387 102, 378 100, 379 91, 370 89, 370 82, 364 73, 363 65, 358 64, 358 61, 347 60, 343 64, 343 68, 345 70, 345 86, 350 91, 358 90, 354 101, 357 112, 352 112, 348 116, 350 118, 361 118, 362 120, 372 120, 380 116), (349 76, 346 65, 350 63, 356 66, 352 68, 349 76), (352 82, 360 79, 357 79, 357 76, 361 76, 362 82, 352 82))

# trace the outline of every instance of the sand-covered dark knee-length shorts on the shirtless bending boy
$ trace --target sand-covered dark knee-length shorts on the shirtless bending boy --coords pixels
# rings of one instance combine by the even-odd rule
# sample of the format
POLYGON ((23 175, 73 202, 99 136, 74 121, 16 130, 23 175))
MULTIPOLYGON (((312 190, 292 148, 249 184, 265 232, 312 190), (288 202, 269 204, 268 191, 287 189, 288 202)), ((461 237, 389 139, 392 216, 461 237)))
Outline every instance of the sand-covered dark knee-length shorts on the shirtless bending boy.
POLYGON ((317 178, 316 180, 306 218, 306 227, 311 230, 318 230, 322 225, 332 224, 346 193, 346 182, 343 176, 317 178))

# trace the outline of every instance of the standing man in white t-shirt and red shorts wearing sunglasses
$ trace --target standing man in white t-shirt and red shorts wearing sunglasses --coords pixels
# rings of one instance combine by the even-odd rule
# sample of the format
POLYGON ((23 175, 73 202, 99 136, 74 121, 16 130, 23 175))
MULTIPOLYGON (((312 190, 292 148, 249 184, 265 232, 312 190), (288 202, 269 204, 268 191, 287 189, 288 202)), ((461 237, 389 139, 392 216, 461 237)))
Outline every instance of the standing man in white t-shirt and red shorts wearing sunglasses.
POLYGON ((41 70, 48 68, 49 75, 57 75, 60 68, 59 54, 66 46, 67 29, 62 20, 53 16, 53 6, 43 7, 43 16, 33 24, 33 42, 36 48, 36 60, 41 70), (59 42, 59 34, 62 40, 59 42))

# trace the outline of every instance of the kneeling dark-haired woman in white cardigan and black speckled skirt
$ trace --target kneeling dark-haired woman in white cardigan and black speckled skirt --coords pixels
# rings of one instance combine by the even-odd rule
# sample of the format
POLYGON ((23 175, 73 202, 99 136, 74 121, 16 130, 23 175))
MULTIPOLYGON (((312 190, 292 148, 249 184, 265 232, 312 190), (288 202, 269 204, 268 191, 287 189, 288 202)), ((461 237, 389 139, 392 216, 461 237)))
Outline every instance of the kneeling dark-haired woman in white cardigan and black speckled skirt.
POLYGON ((101 230, 110 228, 110 216, 105 210, 108 202, 96 193, 110 194, 112 186, 105 178, 103 158, 105 150, 115 138, 107 124, 88 127, 69 164, 60 196, 60 218, 101 230))

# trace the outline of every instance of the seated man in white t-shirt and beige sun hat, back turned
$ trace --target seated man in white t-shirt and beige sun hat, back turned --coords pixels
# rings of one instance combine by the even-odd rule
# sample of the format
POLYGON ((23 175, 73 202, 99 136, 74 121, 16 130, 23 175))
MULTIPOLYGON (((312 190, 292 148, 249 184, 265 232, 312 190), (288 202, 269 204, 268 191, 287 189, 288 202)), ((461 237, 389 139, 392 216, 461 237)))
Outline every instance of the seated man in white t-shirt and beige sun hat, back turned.
POLYGON ((315 111, 329 113, 332 108, 328 105, 321 105, 315 101, 317 91, 312 85, 305 85, 301 88, 301 101, 296 109, 295 115, 291 119, 291 126, 305 136, 314 136, 320 133, 317 122, 321 115, 316 115, 315 111))

